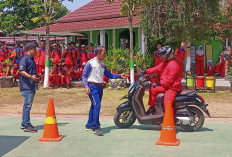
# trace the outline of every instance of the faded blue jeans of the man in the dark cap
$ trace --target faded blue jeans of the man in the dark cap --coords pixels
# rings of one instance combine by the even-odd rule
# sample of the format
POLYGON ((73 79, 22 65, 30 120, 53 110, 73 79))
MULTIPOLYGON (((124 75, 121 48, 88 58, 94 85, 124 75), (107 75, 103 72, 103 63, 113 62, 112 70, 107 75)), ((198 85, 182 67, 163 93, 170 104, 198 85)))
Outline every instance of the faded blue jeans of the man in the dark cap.
POLYGON ((24 106, 23 106, 23 116, 22 116, 22 125, 28 127, 31 125, 30 122, 30 111, 31 106, 34 100, 35 91, 33 90, 22 90, 22 96, 24 97, 24 106))

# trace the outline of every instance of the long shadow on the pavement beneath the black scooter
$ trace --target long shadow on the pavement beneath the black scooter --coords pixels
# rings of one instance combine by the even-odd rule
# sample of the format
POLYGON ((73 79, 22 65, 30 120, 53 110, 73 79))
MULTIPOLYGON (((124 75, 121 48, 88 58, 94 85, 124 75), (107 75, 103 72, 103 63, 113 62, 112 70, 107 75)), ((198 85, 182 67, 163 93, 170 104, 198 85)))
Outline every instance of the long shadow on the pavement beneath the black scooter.
MULTIPOLYGON (((110 133, 112 130, 117 130, 120 129, 117 126, 109 126, 109 127, 105 127, 102 128, 102 131, 104 132, 104 134, 110 133)), ((121 128, 123 129, 123 128, 121 128)), ((124 128, 124 129, 138 129, 138 130, 154 130, 154 131, 160 131, 161 130, 161 126, 160 125, 133 125, 129 128, 124 128)), ((213 129, 209 129, 209 128, 204 128, 202 127, 199 131, 196 132, 205 132, 205 131, 213 131, 213 129)), ((186 132, 183 128, 177 126, 176 127, 176 132, 186 132)))

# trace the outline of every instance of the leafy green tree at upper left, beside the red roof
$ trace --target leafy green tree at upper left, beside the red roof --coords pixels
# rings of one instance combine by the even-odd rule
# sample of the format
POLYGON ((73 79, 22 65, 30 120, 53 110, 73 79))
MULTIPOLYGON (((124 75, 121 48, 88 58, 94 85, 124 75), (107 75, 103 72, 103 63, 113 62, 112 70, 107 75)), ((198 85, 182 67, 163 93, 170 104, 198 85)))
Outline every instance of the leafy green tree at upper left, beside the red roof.
MULTIPOLYGON (((0 1, 0 29, 6 34, 11 34, 19 29, 31 30, 44 26, 44 21, 33 22, 33 19, 42 15, 43 12, 43 0, 0 1)), ((53 19, 56 20, 68 12, 65 6, 57 3, 54 7, 53 19)))

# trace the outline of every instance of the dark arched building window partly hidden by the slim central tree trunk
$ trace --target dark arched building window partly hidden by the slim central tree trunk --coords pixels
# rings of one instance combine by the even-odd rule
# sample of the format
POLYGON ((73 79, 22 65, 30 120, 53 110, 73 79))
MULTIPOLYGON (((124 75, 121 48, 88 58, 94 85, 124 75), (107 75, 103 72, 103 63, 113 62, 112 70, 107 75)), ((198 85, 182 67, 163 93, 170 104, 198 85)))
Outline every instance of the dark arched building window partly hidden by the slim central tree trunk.
MULTIPOLYGON (((135 32, 133 32, 133 37, 134 37, 133 46, 135 47, 135 32)), ((124 48, 124 49, 130 48, 130 31, 129 30, 122 31, 119 34, 119 43, 120 43, 121 48, 124 48)))

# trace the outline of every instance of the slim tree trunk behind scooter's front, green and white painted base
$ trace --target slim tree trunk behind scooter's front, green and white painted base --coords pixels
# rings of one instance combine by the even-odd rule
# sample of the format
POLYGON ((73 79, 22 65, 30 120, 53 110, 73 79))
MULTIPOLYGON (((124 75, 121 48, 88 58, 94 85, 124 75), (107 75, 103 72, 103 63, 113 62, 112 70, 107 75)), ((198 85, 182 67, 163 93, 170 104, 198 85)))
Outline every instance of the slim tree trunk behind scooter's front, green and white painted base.
POLYGON ((133 27, 132 27, 132 22, 133 22, 133 14, 132 12, 129 13, 128 16, 129 20, 129 31, 130 31, 130 83, 133 84, 135 81, 134 77, 134 37, 133 37, 133 27))

